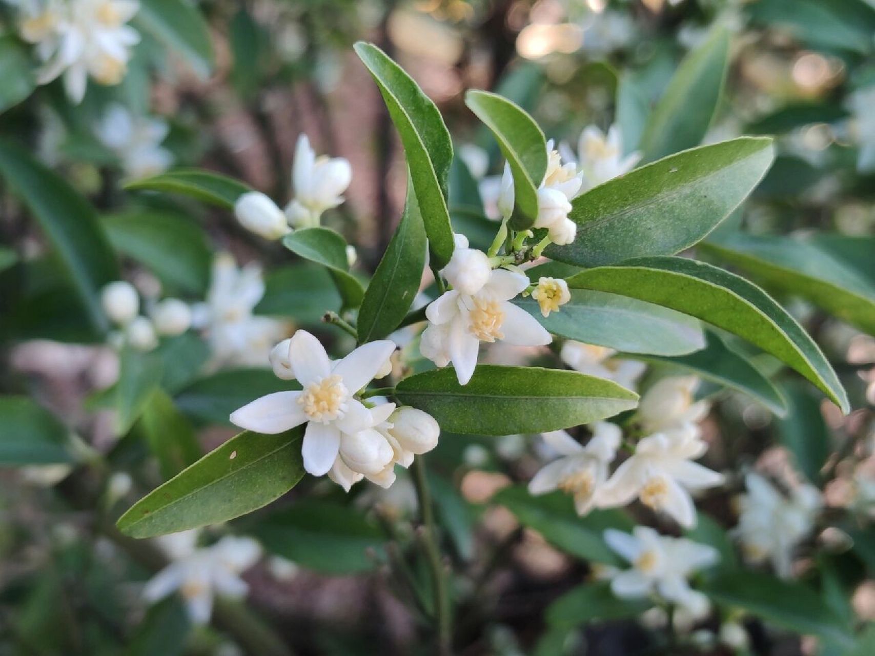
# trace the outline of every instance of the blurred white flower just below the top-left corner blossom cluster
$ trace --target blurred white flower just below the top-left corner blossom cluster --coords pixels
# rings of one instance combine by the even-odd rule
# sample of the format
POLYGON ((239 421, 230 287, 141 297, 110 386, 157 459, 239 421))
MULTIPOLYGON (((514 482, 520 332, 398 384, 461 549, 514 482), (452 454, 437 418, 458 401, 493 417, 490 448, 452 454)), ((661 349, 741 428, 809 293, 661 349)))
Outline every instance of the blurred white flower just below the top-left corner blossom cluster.
POLYGON ((160 173, 173 163, 170 150, 161 147, 169 131, 165 121, 133 115, 117 102, 109 105, 95 125, 95 135, 121 160, 130 178, 160 173))

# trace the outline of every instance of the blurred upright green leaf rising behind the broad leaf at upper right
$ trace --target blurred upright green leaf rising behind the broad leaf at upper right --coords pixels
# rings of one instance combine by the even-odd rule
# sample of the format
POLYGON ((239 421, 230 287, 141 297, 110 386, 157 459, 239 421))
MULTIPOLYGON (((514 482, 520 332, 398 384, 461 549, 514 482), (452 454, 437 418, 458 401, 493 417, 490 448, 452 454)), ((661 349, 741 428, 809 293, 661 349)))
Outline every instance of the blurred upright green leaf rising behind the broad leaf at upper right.
POLYGON ((677 67, 650 113, 640 149, 652 162, 693 148, 711 125, 729 67, 729 31, 718 28, 677 67))

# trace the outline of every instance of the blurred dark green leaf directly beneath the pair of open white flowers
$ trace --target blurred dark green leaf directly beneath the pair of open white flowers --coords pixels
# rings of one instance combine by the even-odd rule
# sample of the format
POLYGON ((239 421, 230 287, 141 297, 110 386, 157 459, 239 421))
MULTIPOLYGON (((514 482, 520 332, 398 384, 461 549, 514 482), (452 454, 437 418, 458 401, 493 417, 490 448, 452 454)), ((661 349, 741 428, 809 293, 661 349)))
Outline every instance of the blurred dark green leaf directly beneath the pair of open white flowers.
POLYGON ((492 500, 505 506, 523 526, 542 534, 546 541, 566 554, 608 565, 623 564, 604 538, 608 528, 632 530, 632 520, 618 510, 596 510, 578 517, 568 494, 551 492, 535 497, 522 485, 506 487, 492 500))

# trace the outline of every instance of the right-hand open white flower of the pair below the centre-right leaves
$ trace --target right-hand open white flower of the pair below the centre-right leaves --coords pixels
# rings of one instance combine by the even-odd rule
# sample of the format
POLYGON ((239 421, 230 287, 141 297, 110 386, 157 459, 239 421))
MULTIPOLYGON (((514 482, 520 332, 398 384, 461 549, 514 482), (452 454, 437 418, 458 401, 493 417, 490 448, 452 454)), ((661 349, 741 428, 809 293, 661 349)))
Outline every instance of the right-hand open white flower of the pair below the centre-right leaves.
POLYGON ((602 488, 600 507, 625 506, 635 497, 656 511, 669 514, 682 527, 696 525, 696 507, 689 491, 704 490, 723 483, 724 477, 701 464, 708 445, 699 437, 696 426, 641 439, 635 452, 620 464, 602 488))

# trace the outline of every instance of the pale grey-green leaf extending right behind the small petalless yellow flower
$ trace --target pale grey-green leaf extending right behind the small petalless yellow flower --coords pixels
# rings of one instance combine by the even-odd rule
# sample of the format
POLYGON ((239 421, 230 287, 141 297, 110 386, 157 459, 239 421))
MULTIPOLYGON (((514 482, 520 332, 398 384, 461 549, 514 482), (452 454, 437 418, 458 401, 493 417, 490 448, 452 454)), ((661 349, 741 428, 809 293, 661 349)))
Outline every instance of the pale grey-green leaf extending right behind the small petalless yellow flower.
POLYGON ((554 335, 617 351, 678 355, 705 345, 696 319, 616 294, 571 290, 571 300, 546 318, 532 297, 518 297, 514 304, 554 335))

